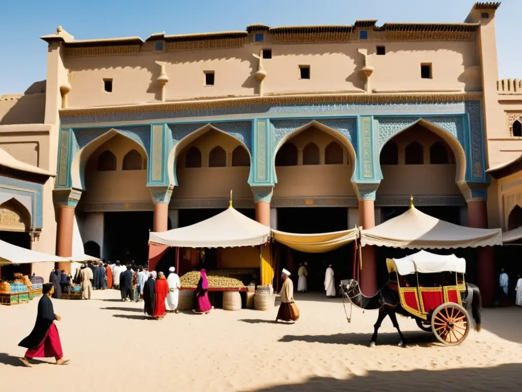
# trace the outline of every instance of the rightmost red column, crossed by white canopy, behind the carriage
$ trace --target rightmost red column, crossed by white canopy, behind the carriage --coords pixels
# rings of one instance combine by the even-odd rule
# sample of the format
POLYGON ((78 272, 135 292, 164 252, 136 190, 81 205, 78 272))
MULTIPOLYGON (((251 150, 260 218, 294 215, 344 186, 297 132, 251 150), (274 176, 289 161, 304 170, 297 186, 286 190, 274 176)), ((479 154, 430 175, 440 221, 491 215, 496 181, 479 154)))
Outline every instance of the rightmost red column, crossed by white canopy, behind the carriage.
MULTIPOLYGON (((488 209, 485 200, 468 200, 468 226, 488 228, 488 209)), ((477 285, 482 306, 492 306, 495 298, 495 255, 491 246, 477 248, 477 285)))

